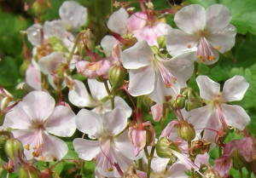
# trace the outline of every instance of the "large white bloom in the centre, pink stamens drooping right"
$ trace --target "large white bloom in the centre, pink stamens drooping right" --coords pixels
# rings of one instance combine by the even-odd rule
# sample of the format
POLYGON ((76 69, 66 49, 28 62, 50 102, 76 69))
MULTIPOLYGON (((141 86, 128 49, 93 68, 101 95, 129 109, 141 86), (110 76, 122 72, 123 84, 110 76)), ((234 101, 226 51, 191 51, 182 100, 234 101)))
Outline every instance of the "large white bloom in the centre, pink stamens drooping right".
POLYGON ((165 102, 170 96, 176 97, 194 70, 191 55, 193 53, 188 52, 172 59, 162 59, 154 55, 145 41, 125 49, 121 61, 130 70, 129 93, 133 96, 149 95, 157 103, 165 102))

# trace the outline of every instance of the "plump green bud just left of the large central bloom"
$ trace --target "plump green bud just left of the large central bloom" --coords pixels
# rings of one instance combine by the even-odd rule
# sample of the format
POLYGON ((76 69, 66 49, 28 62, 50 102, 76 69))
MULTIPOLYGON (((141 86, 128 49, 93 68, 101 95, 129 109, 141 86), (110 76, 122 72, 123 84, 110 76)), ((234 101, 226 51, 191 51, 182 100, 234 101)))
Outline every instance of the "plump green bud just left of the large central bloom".
POLYGON ((125 75, 126 70, 122 66, 114 65, 110 68, 108 79, 114 89, 118 89, 122 86, 125 80, 125 75))

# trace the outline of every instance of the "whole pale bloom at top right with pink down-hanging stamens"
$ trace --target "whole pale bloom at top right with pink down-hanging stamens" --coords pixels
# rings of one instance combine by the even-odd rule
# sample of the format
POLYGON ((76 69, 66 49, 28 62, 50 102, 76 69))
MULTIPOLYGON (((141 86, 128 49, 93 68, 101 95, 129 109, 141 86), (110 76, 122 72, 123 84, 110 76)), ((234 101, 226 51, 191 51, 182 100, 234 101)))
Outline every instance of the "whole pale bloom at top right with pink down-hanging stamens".
POLYGON ((230 25, 229 9, 214 4, 208 9, 193 4, 175 14, 178 28, 169 31, 166 46, 171 55, 194 49, 199 62, 213 64, 218 61, 218 52, 224 53, 235 44, 236 27, 230 25))

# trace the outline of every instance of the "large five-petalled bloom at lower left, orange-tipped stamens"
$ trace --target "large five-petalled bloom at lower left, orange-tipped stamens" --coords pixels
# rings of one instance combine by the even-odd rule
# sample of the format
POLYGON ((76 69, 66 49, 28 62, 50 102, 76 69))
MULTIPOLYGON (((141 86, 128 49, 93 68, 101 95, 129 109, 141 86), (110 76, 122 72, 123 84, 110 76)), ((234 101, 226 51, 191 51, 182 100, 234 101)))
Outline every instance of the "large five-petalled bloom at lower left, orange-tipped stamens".
POLYGON ((53 136, 72 136, 75 114, 68 106, 55 106, 55 100, 43 91, 32 91, 10 110, 4 126, 20 140, 27 159, 61 160, 67 154, 67 144, 53 136))

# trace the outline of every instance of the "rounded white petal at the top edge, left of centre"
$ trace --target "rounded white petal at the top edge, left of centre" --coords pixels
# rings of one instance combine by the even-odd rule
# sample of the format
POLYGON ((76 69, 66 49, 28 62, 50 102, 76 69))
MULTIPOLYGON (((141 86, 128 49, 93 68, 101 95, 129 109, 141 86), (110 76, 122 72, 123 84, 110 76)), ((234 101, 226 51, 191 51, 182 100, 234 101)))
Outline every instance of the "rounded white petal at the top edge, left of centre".
POLYGON ((62 3, 59 14, 65 25, 72 29, 83 26, 87 19, 87 9, 74 1, 62 3))

